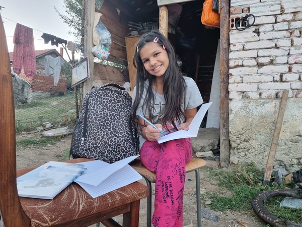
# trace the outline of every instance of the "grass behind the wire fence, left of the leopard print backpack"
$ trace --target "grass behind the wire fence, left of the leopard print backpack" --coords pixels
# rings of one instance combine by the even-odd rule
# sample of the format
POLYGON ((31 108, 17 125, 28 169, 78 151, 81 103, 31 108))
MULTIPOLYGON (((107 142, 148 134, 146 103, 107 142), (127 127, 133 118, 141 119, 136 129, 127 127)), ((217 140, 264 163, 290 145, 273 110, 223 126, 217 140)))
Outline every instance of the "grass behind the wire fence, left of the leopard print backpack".
POLYGON ((30 132, 43 123, 73 128, 77 123, 72 93, 55 97, 33 98, 31 103, 15 106, 16 132, 30 132))

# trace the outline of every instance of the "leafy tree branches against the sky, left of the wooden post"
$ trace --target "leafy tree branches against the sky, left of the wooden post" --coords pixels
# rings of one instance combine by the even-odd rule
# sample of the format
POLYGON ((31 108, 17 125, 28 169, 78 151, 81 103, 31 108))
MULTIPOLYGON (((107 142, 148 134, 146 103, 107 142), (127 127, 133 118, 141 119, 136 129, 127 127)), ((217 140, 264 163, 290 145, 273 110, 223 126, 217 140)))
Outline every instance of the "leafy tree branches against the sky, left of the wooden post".
POLYGON ((68 16, 61 14, 56 7, 54 10, 63 22, 73 29, 73 31, 68 31, 68 34, 72 34, 76 41, 81 43, 83 0, 63 0, 63 3, 68 16))

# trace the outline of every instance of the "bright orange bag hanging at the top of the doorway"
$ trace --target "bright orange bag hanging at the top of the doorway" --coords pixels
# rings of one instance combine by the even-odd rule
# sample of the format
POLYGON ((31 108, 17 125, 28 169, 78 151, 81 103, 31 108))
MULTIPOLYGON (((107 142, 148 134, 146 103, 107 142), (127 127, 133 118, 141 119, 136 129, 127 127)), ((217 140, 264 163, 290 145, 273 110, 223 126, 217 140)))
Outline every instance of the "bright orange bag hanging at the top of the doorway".
POLYGON ((201 14, 201 23, 206 26, 220 28, 220 15, 212 10, 212 3, 213 0, 204 1, 201 14))

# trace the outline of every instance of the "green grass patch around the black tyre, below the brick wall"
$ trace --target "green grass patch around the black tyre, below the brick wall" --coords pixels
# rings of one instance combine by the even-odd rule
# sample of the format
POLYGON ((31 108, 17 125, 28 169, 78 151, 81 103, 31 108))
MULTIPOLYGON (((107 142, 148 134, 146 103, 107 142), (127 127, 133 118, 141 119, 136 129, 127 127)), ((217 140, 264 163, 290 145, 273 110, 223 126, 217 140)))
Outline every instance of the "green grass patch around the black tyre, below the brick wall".
MULTIPOLYGON (((219 191, 206 194, 212 203, 210 209, 224 212, 234 210, 240 212, 254 212, 251 201, 260 191, 271 189, 293 188, 293 185, 280 186, 276 183, 262 185, 264 171, 257 169, 254 163, 237 165, 230 168, 205 169, 210 178, 218 182, 219 191)), ((273 176, 272 176, 273 180, 273 176)), ((283 220, 302 224, 302 209, 280 207, 283 197, 273 197, 265 202, 266 209, 283 220)), ((263 225, 267 226, 267 225, 263 225)))

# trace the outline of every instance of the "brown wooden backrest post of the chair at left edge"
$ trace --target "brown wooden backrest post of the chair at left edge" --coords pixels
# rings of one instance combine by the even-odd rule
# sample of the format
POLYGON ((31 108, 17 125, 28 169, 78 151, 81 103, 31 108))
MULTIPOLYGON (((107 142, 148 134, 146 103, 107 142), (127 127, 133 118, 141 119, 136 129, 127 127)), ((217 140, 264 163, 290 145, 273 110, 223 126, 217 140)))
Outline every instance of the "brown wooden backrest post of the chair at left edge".
MULTIPOLYGON (((2 166, 0 188, 1 222, 5 226, 30 226, 30 219, 24 212, 17 192, 16 173, 16 126, 13 82, 9 50, 0 15, 0 159, 5 160, 2 166), (11 205, 8 205, 11 204, 11 205), (18 214, 18 215, 16 215, 18 214)), ((2 162, 3 163, 3 162, 2 162)))

